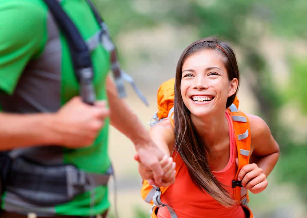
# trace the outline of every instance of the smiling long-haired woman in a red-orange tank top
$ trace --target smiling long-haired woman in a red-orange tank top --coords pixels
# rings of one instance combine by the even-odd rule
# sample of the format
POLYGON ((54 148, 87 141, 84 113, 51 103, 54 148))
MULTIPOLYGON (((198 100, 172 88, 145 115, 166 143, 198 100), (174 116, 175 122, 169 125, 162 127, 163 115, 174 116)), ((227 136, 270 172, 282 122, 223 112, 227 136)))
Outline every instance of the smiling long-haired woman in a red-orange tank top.
MULTIPOLYGON (((233 121, 225 110, 233 103, 238 86, 235 54, 226 43, 208 37, 182 53, 175 77, 174 119, 165 119, 150 130, 166 155, 184 163, 161 197, 179 218, 246 217, 232 196, 238 153, 233 121)), ((260 193, 268 185, 266 177, 278 160, 279 147, 261 118, 247 118, 251 159, 239 171, 238 181, 252 193, 260 193)), ((169 185, 174 166, 165 159, 164 165, 163 179, 169 185)), ((142 164, 139 171, 143 179, 152 178, 142 164)), ((156 215, 170 217, 167 207, 159 208, 156 215)))

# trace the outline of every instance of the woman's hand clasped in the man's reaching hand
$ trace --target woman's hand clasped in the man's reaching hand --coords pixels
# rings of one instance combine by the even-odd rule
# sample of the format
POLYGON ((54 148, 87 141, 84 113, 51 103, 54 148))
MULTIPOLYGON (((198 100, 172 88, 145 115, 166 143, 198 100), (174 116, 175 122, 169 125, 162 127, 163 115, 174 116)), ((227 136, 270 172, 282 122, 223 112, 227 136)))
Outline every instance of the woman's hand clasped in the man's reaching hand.
POLYGON ((166 187, 174 183, 175 181, 175 167, 176 163, 173 162, 173 158, 169 157, 168 155, 165 155, 162 160, 160 161, 160 165, 163 169, 164 175, 162 177, 162 183, 161 185, 157 185, 153 180, 153 172, 148 167, 145 167, 139 160, 138 155, 134 155, 134 159, 138 161, 138 171, 142 177, 142 179, 148 180, 150 185, 154 186, 162 186, 166 187))

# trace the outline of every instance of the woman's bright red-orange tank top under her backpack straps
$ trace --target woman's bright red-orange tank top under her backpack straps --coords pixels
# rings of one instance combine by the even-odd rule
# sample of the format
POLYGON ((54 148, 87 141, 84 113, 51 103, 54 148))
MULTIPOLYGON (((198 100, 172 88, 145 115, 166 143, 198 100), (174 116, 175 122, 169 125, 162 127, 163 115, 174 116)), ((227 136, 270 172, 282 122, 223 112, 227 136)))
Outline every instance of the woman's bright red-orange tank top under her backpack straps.
MULTIPOLYGON (((214 176, 224 185, 223 186, 230 194, 233 194, 231 181, 235 178, 237 166, 235 158, 238 157, 235 133, 233 130, 232 120, 226 112, 226 118, 229 127, 230 139, 230 157, 228 164, 221 171, 212 171, 214 176)), ((177 158, 180 158, 177 155, 177 158)), ((176 181, 169 186, 165 193, 161 196, 161 201, 173 208, 178 218, 245 218, 244 211, 240 205, 235 205, 232 208, 226 208, 206 192, 201 192, 191 180, 188 173, 188 168, 185 164, 181 166, 180 171, 176 176, 176 181)), ((157 212, 158 218, 170 218, 169 211, 166 207, 159 208, 157 212)))

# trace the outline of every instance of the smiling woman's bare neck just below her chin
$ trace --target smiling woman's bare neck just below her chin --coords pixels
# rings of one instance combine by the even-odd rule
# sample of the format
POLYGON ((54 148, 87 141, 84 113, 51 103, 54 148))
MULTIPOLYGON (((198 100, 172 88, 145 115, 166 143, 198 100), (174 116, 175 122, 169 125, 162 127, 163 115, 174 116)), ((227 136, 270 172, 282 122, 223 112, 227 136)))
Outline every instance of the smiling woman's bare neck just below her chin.
POLYGON ((204 117, 191 115, 191 118, 198 134, 210 147, 220 144, 224 140, 223 136, 228 135, 225 111, 215 112, 214 115, 204 117))

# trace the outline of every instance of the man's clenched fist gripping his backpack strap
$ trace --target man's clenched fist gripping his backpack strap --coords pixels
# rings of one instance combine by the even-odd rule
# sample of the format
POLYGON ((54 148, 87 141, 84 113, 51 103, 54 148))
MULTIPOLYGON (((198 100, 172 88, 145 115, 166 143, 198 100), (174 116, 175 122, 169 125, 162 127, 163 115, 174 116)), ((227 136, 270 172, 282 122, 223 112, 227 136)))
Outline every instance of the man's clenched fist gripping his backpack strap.
POLYGON ((68 148, 90 146, 108 115, 105 101, 88 105, 79 96, 73 97, 53 117, 56 135, 59 136, 56 144, 68 148))

